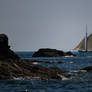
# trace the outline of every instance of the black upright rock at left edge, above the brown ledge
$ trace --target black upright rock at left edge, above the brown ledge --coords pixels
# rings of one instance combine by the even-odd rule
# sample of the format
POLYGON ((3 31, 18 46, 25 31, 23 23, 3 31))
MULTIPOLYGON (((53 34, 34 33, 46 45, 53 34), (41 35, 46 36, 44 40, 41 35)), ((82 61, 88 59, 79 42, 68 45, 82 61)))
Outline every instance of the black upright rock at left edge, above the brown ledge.
POLYGON ((0 59, 19 59, 8 45, 8 37, 5 34, 0 34, 0 59))

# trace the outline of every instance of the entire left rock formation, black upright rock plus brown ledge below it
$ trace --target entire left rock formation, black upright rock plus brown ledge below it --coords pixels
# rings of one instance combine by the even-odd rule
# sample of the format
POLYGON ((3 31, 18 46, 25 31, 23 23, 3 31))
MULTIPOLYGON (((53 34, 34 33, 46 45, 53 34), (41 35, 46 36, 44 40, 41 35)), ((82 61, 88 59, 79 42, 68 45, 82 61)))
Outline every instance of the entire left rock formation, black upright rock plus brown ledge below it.
MULTIPOLYGON (((62 54, 63 52, 60 53, 62 54)), ((71 78, 71 76, 63 70, 34 65, 33 62, 34 61, 21 60, 10 50, 10 46, 8 46, 8 37, 5 34, 0 34, 0 79, 37 78, 43 80, 62 80, 71 78)), ((39 61, 39 63, 41 62, 39 61)))

